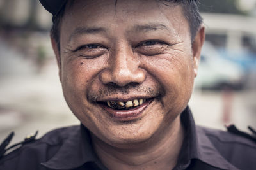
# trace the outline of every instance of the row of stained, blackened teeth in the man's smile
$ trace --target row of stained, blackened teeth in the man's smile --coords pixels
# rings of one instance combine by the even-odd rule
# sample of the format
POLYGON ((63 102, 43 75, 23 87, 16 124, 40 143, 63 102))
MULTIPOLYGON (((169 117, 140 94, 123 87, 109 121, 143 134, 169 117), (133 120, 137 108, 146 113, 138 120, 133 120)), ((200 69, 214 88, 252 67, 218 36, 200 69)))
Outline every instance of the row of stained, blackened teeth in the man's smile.
POLYGON ((145 103, 145 101, 146 101, 146 99, 134 99, 133 101, 127 101, 127 102, 107 101, 107 104, 108 104, 109 108, 123 109, 123 108, 131 108, 131 107, 139 106, 139 105, 145 103))

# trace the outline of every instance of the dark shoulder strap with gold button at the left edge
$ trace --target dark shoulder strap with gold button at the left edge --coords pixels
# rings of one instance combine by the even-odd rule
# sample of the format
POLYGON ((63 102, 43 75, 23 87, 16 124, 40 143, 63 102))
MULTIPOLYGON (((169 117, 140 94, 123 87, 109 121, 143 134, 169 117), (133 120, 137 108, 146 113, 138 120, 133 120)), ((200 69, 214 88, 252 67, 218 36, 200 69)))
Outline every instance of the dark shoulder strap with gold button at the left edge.
POLYGON ((14 145, 6 148, 6 146, 9 145, 9 143, 12 141, 12 138, 14 136, 14 132, 11 132, 5 139, 4 141, 1 143, 0 145, 0 159, 1 157, 3 157, 4 153, 6 153, 8 150, 19 146, 19 145, 24 145, 25 143, 30 143, 31 141, 35 141, 36 135, 38 134, 38 131, 35 132, 35 134, 30 134, 28 136, 26 136, 26 138, 24 139, 24 141, 19 142, 19 143, 15 143, 14 145))

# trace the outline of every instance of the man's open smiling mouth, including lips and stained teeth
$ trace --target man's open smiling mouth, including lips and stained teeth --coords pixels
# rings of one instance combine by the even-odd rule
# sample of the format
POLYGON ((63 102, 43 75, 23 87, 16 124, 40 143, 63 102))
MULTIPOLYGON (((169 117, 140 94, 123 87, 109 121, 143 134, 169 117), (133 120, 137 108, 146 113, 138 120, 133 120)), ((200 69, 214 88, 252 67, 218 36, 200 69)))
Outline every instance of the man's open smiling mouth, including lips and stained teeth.
POLYGON ((136 120, 143 117, 143 111, 154 100, 133 99, 129 101, 104 101, 100 105, 109 113, 112 118, 119 121, 136 120))

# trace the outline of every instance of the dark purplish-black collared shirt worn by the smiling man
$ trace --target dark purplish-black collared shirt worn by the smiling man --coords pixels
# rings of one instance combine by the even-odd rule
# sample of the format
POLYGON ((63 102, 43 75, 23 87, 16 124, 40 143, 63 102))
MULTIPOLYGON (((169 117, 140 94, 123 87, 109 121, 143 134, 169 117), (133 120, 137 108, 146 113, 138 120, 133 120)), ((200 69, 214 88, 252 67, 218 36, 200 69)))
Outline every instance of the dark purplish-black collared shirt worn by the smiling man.
MULTIPOLYGON (((230 132, 196 126, 187 107, 181 115, 186 136, 175 170, 256 169, 256 143, 230 132)), ((106 169, 83 125, 51 131, 0 160, 1 170, 106 169)))

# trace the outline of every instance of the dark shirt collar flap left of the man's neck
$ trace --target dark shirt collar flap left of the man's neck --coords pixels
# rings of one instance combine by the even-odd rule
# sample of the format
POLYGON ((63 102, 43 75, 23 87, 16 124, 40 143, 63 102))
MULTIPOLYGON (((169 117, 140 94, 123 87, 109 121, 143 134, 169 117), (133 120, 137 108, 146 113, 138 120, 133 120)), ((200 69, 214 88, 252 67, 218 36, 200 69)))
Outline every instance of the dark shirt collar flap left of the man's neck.
POLYGON ((65 139, 58 152, 42 166, 49 169, 74 169, 86 162, 99 162, 93 151, 88 129, 82 124, 65 139))

